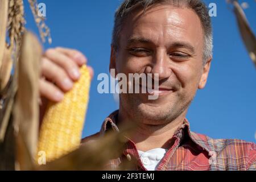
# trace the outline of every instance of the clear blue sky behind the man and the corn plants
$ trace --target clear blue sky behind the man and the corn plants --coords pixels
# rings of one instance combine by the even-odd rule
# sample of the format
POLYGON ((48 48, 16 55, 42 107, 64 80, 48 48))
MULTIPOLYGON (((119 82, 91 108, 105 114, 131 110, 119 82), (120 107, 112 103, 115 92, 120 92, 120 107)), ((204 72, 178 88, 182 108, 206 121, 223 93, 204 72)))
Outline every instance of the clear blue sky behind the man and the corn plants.
MULTIPOLYGON (((97 75, 108 73, 114 11, 121 0, 38 0, 46 3, 47 25, 53 42, 49 47, 79 49, 88 57, 95 76, 90 89, 89 109, 83 137, 100 130, 102 121, 118 109, 112 94, 97 92, 97 75)), ((212 138, 238 138, 255 142, 256 69, 247 55, 236 19, 225 1, 207 0, 217 5, 212 18, 214 56, 208 84, 199 90, 187 114, 191 129, 212 138)), ((243 1, 240 1, 243 2, 243 1)), ((248 0, 247 18, 256 32, 256 3, 248 0)), ((25 1, 26 27, 38 34, 25 1)))

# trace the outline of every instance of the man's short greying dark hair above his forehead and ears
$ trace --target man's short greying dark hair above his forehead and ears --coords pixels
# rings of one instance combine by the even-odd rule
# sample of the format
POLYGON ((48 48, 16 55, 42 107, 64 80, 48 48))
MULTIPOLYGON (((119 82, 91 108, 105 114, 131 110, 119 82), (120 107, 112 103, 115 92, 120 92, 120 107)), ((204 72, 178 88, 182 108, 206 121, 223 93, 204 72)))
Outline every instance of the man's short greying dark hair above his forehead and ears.
POLYGON ((172 5, 175 7, 188 7, 195 11, 201 20, 201 26, 204 30, 204 64, 212 57, 213 36, 212 24, 208 13, 208 8, 201 0, 124 0, 115 12, 114 29, 112 35, 112 46, 115 51, 119 48, 119 34, 122 31, 125 20, 135 9, 146 9, 154 5, 172 5))

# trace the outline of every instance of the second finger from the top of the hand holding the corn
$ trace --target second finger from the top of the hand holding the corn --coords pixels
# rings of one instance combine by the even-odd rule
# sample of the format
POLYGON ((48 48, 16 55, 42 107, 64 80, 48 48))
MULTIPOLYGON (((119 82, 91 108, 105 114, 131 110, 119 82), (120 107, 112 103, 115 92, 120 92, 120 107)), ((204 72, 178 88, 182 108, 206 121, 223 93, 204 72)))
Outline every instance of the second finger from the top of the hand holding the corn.
POLYGON ((75 63, 75 61, 70 59, 68 56, 58 51, 55 51, 55 49, 48 49, 46 51, 46 57, 59 65, 61 68, 64 68, 65 71, 68 73, 69 77, 72 78, 72 80, 76 81, 79 79, 79 67, 75 63))

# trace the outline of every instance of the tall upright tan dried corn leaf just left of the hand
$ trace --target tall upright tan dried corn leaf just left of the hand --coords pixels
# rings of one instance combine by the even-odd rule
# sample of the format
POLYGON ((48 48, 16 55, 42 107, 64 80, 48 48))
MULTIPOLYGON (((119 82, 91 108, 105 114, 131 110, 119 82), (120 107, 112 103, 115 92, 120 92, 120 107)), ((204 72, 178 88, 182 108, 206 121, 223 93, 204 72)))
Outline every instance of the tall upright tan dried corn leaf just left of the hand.
MULTIPOLYGON (((30 32, 25 32, 20 49, 18 64, 18 91, 15 100, 14 119, 18 136, 21 136, 28 148, 30 156, 35 156, 39 130, 39 61, 42 47, 38 39, 30 32)), ((20 169, 26 166, 21 160, 22 148, 18 148, 20 169)))

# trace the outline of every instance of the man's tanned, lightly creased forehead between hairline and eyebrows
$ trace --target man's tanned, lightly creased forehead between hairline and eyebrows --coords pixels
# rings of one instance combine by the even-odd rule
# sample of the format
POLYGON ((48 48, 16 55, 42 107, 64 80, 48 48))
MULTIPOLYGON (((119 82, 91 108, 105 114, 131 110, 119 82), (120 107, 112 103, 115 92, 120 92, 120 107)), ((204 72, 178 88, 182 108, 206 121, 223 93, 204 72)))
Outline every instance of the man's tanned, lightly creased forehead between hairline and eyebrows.
POLYGON ((126 41, 141 37, 159 42, 161 38, 181 40, 184 36, 203 41, 203 29, 196 13, 170 5, 152 7, 145 14, 143 10, 135 12, 127 19, 123 31, 125 36, 122 37, 126 41))

